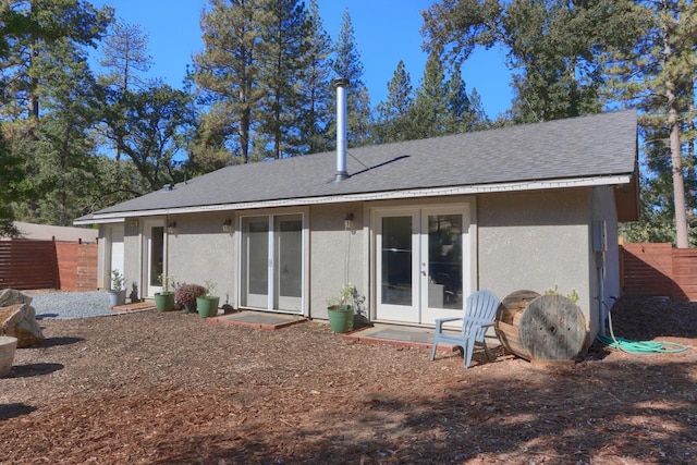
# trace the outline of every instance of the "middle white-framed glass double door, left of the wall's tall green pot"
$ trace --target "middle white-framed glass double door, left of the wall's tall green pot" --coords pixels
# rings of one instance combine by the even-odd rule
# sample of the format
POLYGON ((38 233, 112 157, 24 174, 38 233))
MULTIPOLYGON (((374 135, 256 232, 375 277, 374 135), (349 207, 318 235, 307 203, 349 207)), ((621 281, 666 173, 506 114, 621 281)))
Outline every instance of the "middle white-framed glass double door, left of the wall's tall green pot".
POLYGON ((303 311, 303 216, 242 218, 241 305, 303 311))

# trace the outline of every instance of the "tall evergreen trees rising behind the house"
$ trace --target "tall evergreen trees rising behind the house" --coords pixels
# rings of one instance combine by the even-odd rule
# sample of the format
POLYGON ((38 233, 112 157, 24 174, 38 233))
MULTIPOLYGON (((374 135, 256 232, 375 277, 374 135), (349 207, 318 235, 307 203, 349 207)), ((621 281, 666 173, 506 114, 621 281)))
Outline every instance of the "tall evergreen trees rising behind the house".
POLYGON ((348 10, 332 42, 317 0, 208 0, 183 89, 147 76, 147 35, 113 13, 0 0, 0 234, 13 219, 70 224, 229 163, 333 150, 332 81, 344 77, 350 147, 638 108, 641 220, 622 233, 697 242, 690 0, 436 1, 423 13, 418 85, 400 61, 375 112, 348 10), (86 60, 97 45, 98 76, 86 60), (515 90, 496 123, 461 72, 492 46, 506 51, 515 90))

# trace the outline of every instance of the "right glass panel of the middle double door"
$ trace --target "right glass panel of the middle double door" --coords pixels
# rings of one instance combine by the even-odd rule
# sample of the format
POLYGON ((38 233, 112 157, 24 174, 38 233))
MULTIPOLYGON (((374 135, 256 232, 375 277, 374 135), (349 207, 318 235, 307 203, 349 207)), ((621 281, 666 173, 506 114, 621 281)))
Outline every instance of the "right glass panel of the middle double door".
POLYGON ((303 218, 279 216, 274 219, 274 308, 302 311, 303 218))

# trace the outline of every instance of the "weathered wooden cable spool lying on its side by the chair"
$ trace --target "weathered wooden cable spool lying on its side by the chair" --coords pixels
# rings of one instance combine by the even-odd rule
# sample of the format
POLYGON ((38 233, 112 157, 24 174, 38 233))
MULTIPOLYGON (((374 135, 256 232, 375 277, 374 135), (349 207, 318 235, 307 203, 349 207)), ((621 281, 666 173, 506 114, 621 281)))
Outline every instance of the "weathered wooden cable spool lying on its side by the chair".
POLYGON ((499 306, 497 335, 511 353, 527 360, 571 360, 587 338, 580 308, 559 294, 516 291, 499 306))

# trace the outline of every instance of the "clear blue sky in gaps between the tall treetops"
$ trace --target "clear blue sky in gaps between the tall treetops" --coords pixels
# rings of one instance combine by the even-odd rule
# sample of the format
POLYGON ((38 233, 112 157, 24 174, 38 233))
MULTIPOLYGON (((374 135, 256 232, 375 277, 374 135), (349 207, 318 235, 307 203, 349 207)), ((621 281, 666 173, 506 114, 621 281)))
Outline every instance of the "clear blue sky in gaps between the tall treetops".
MULTIPOLYGON (((203 49, 200 11, 206 0, 91 0, 108 4, 117 17, 139 24, 149 36, 155 62, 150 77, 162 77, 181 87, 191 57, 203 49)), ((335 40, 341 17, 347 8, 364 66, 364 81, 374 106, 384 99, 387 84, 403 60, 417 87, 426 54, 421 51, 421 15, 431 0, 319 0, 327 33, 335 40)), ((463 66, 468 91, 476 88, 489 118, 511 107, 510 72, 500 50, 477 51, 463 66)))

